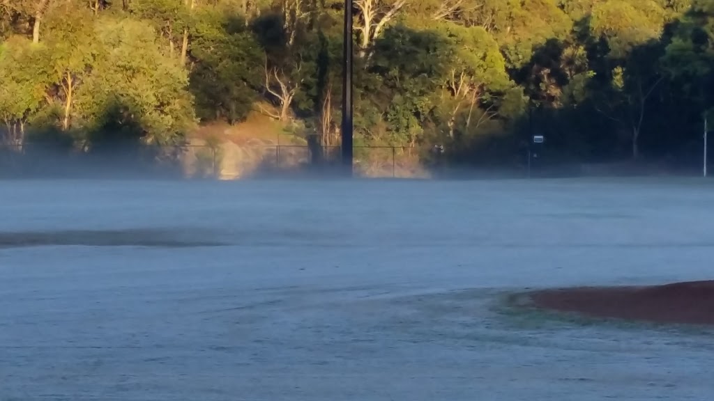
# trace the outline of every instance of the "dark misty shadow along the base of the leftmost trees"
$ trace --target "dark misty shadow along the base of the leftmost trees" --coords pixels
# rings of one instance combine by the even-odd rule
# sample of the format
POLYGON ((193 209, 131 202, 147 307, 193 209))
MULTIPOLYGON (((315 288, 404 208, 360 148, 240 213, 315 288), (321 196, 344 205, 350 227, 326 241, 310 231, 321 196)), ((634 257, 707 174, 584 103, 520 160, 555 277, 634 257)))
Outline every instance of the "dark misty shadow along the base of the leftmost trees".
POLYGON ((98 123, 86 131, 36 128, 21 146, 0 153, 5 178, 178 178, 181 144, 146 143, 147 131, 131 108, 108 103, 98 123))

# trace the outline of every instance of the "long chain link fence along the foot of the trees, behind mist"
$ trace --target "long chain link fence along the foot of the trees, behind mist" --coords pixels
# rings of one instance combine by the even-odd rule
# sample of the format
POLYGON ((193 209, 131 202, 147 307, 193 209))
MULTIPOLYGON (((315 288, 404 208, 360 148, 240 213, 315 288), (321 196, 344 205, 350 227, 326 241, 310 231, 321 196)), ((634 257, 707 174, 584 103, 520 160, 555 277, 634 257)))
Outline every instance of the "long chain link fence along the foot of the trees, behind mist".
MULTIPOLYGON (((415 148, 356 146, 354 175, 369 178, 426 176, 415 148)), ((341 171, 338 146, 218 145, 106 146, 91 150, 54 143, 0 146, 0 176, 174 177, 224 180, 341 171)))

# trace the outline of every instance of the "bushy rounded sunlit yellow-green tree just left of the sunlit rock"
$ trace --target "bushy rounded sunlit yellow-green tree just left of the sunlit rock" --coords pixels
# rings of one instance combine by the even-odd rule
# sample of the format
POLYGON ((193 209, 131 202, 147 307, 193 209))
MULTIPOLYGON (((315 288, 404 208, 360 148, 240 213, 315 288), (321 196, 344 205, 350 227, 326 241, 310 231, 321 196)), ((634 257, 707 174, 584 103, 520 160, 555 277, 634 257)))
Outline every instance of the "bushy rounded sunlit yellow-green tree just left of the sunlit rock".
POLYGON ((141 21, 100 20, 95 32, 101 51, 78 93, 84 127, 109 123, 116 114, 106 110, 121 105, 141 126, 144 143, 181 141, 195 123, 185 69, 161 51, 154 30, 141 21))

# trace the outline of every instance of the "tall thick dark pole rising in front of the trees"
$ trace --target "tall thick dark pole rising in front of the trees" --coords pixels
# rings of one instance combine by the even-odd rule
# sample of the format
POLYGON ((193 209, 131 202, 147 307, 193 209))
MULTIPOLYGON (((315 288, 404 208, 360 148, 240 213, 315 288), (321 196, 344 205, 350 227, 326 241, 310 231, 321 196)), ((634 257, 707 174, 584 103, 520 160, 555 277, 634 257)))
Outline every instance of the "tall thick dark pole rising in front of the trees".
POLYGON ((345 173, 352 176, 352 1, 345 0, 345 31, 342 70, 342 163, 345 173))

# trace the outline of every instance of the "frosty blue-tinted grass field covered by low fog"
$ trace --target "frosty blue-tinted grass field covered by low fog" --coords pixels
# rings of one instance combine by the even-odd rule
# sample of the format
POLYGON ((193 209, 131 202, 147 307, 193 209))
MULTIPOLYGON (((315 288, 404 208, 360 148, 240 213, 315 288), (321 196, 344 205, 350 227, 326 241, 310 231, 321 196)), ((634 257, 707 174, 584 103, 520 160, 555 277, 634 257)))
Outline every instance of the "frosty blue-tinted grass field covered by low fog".
POLYGON ((711 279, 703 180, 4 181, 0 400, 709 400, 712 330, 526 288, 711 279))

